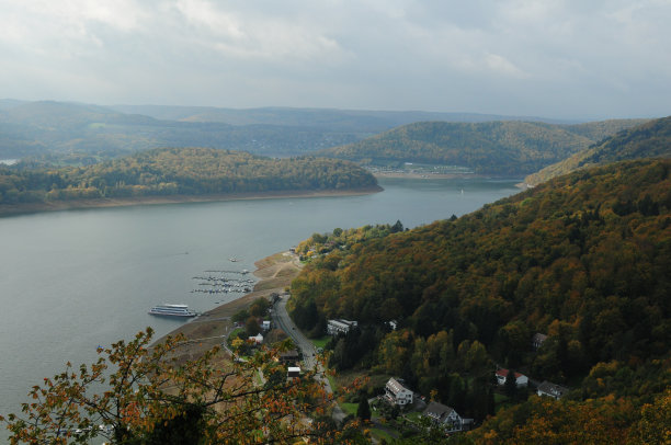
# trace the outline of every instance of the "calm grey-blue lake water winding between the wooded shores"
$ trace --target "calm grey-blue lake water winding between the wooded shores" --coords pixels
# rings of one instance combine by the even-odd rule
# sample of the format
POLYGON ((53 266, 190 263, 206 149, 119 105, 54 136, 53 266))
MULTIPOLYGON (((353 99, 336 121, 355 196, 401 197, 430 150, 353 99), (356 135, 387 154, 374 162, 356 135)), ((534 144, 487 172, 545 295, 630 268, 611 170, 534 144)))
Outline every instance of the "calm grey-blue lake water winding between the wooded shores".
POLYGON ((30 387, 67 361, 92 362, 99 344, 147 326, 162 335, 181 323, 147 315, 156 304, 202 311, 226 301, 190 293, 197 287, 192 277, 206 270, 251 271, 254 261, 336 227, 397 219, 416 227, 459 216, 516 193, 516 182, 387 179, 384 192, 366 196, 0 218, 0 413, 19 412, 30 387))

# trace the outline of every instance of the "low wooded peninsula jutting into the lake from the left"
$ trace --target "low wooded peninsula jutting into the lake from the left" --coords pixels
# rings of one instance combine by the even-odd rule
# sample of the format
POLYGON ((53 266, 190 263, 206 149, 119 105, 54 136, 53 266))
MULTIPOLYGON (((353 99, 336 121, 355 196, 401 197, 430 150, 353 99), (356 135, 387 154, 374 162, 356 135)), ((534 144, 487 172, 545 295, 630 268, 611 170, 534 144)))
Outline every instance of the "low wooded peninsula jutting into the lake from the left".
POLYGON ((171 148, 83 168, 0 167, 0 204, 150 195, 207 195, 376 187, 346 161, 271 159, 241 151, 171 148))

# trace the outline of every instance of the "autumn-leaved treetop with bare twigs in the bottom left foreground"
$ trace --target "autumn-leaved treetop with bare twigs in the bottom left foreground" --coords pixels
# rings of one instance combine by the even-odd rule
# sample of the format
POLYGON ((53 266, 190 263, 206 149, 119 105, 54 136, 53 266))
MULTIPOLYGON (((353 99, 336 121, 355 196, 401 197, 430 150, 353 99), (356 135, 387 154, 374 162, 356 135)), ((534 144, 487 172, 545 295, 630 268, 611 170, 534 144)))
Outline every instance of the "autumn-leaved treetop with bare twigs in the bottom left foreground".
POLYGON ((94 364, 68 364, 33 387, 21 414, 0 418, 11 443, 88 443, 96 436, 115 444, 338 441, 339 433, 305 421, 332 403, 314 372, 272 377, 285 373, 273 360, 285 344, 248 361, 223 361, 218 349, 184 361, 183 336, 149 346, 151 335, 148 328, 128 343, 100 349, 94 364))

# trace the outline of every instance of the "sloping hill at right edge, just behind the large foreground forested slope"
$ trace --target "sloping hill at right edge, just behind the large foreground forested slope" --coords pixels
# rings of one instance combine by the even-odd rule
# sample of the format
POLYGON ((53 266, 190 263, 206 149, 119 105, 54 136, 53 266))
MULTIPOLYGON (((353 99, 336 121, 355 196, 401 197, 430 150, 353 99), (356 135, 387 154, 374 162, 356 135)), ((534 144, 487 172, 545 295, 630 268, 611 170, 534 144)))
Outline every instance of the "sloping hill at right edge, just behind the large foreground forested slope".
POLYGON ((536 185, 551 178, 591 166, 641 159, 671 158, 671 116, 649 121, 581 150, 569 158, 530 174, 524 182, 536 185))

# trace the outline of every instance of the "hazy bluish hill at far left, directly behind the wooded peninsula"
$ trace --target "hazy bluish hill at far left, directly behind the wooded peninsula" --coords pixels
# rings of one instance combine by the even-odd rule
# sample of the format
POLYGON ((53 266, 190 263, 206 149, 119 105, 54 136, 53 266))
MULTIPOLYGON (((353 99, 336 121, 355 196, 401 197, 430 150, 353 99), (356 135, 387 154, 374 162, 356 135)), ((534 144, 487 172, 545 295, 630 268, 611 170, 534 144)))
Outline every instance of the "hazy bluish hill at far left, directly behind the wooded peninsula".
POLYGON ((289 157, 348 144, 365 135, 280 125, 157 119, 109 107, 29 102, 0 113, 0 159, 82 151, 123 156, 156 147, 211 147, 289 157))

